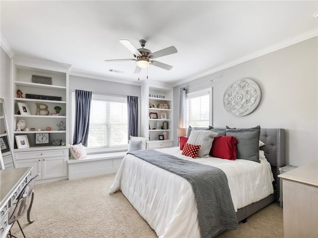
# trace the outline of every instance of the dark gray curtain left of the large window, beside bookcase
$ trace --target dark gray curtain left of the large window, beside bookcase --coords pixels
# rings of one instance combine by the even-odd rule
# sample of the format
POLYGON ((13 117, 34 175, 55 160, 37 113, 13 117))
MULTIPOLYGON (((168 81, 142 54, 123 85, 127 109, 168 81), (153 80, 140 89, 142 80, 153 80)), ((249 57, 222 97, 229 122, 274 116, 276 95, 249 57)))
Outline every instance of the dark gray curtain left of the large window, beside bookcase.
POLYGON ((75 104, 76 108, 73 145, 82 143, 83 146, 87 146, 91 92, 75 90, 75 104))

